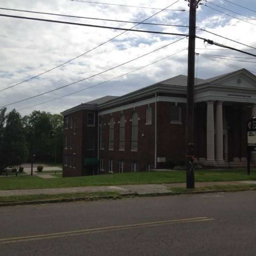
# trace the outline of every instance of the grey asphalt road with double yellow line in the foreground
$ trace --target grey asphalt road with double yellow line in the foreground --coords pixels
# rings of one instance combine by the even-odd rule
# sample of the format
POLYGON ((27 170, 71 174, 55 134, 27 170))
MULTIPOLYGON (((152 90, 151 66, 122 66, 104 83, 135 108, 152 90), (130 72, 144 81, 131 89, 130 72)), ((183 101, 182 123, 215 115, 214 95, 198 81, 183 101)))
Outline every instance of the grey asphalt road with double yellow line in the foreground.
POLYGON ((0 255, 256 255, 256 192, 0 208, 0 255))

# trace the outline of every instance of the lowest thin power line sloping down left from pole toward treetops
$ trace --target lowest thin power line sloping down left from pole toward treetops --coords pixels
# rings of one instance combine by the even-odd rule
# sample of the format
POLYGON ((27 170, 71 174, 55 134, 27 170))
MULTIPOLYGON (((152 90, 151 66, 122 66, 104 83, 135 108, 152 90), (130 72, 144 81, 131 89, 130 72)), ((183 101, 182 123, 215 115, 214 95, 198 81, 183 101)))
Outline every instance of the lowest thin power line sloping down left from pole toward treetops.
POLYGON ((73 94, 75 94, 75 93, 78 93, 78 92, 82 92, 82 91, 91 89, 91 88, 96 87, 96 86, 98 86, 98 85, 105 84, 105 83, 107 83, 107 82, 113 81, 113 80, 115 80, 115 79, 117 79, 117 78, 120 78, 120 77, 122 77, 122 76, 126 76, 126 75, 131 74, 131 73, 133 73, 133 72, 135 72, 135 71, 138 71, 138 70, 140 70, 140 69, 142 69, 142 68, 146 68, 146 67, 148 67, 148 66, 150 66, 150 65, 152 65, 152 64, 155 64, 155 63, 157 63, 157 62, 159 62, 159 61, 161 61, 161 60, 165 60, 165 59, 167 59, 167 58, 170 58, 171 56, 173 56, 173 55, 175 55, 175 54, 177 54, 177 53, 183 52, 183 51, 185 51, 185 50, 187 50, 187 49, 188 49, 188 48, 185 48, 185 49, 183 49, 183 50, 180 50, 179 52, 175 52, 175 53, 173 53, 173 54, 171 54, 171 55, 168 55, 168 56, 166 56, 166 57, 164 57, 164 58, 162 58, 162 59, 160 59, 160 60, 156 60, 156 61, 154 61, 154 62, 151 62, 151 63, 149 63, 149 64, 146 65, 146 66, 143 66, 143 67, 134 69, 134 70, 129 71, 129 72, 123 74, 123 75, 116 76, 116 77, 114 77, 114 78, 111 78, 111 79, 106 80, 106 81, 104 81, 104 82, 101 82, 101 83, 99 83, 99 84, 95 84, 95 85, 86 87, 86 88, 84 88, 84 89, 82 89, 82 90, 79 90, 79 91, 76 91, 76 92, 68 93, 68 94, 66 94, 66 95, 63 95, 63 96, 58 97, 58 98, 54 98, 54 99, 52 99, 52 100, 47 100, 47 101, 44 101, 44 102, 41 102, 41 103, 38 103, 38 104, 35 104, 35 105, 32 105, 32 106, 28 106, 28 107, 25 107, 25 108, 20 108, 20 109, 18 109, 18 110, 20 111, 20 110, 23 110, 23 109, 36 107, 36 106, 39 106, 39 105, 42 105, 42 104, 51 102, 51 101, 53 101, 53 100, 59 100, 59 99, 61 99, 61 98, 64 98, 64 97, 73 95, 73 94))

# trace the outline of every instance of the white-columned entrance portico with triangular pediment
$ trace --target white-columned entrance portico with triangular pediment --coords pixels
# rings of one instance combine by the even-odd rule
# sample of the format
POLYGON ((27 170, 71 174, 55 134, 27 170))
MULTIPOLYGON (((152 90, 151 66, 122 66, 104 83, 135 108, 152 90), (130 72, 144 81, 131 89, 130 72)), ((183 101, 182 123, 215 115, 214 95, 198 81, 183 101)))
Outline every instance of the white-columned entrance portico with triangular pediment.
MULTIPOLYGON (((213 77, 196 86, 196 104, 205 108, 206 153, 195 152, 197 161, 209 166, 245 165, 246 121, 256 116, 256 79, 245 69, 213 77)), ((204 120, 204 118, 202 118, 204 120)), ((197 136, 198 137, 198 136, 197 136)), ((201 145, 202 147, 202 145, 201 145)), ((256 153, 252 153, 256 162, 256 153)))

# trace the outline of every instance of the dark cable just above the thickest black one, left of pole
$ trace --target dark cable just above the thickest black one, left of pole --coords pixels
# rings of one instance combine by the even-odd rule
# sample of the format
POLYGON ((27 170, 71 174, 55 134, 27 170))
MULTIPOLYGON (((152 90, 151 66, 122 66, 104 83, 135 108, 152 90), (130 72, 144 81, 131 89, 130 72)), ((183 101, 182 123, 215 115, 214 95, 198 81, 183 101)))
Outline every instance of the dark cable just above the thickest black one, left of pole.
MULTIPOLYGON (((105 21, 114 21, 114 22, 123 22, 123 23, 140 23, 140 21, 100 19, 100 18, 92 18, 92 17, 84 17, 84 16, 58 14, 58 13, 52 13, 52 12, 35 12, 35 11, 20 10, 20 9, 9 9, 9 8, 1 8, 1 7, 0 7, 0 10, 8 10, 8 11, 16 11, 16 12, 29 12, 29 13, 37 13, 37 14, 47 14, 47 15, 69 17, 69 18, 79 18, 79 19, 89 19, 89 20, 105 20, 105 21)), ((170 25, 170 24, 147 23, 147 22, 141 22, 140 24, 188 28, 188 26, 184 26, 184 25, 170 25)))

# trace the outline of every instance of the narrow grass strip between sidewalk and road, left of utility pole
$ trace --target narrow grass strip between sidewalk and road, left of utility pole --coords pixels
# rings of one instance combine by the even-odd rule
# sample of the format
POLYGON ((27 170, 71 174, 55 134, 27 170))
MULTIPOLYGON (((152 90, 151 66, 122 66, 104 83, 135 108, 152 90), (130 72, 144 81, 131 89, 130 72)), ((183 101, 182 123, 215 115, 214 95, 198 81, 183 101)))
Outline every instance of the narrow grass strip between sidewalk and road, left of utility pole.
POLYGON ((49 199, 71 199, 77 197, 118 196, 118 192, 71 193, 58 195, 0 196, 0 203, 27 202, 49 199))

